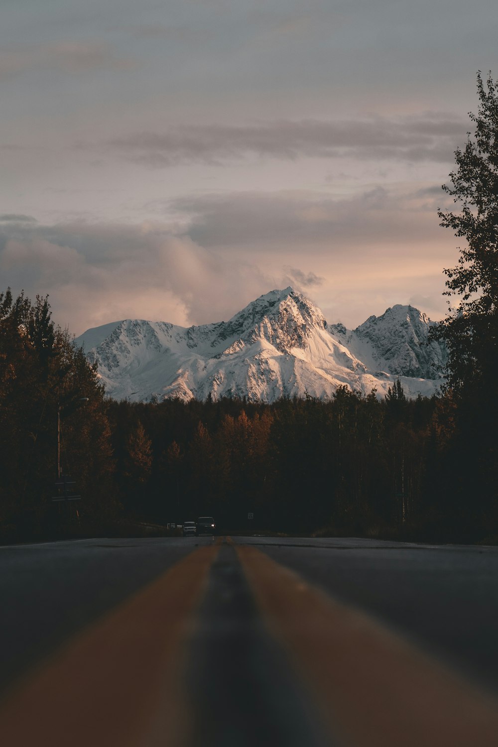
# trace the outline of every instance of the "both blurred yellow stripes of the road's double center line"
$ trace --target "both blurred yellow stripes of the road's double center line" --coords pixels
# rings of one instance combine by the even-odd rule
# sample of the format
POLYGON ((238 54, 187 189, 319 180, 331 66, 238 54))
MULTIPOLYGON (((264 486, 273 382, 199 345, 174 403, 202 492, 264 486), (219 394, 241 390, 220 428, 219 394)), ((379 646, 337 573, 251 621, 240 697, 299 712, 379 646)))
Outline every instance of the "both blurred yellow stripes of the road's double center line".
MULTIPOLYGON (((266 554, 235 547, 334 744, 498 745, 494 699, 266 554)), ((188 747, 188 642, 218 550, 193 551, 20 683, 0 708, 1 744, 188 747)))

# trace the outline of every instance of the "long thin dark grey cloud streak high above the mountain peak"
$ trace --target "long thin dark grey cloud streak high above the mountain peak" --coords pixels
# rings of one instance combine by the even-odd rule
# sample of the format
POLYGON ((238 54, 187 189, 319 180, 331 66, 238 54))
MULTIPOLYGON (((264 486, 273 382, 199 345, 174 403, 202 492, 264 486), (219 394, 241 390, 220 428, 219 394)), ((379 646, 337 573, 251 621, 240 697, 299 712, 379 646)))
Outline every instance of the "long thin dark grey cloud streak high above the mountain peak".
POLYGON ((452 161, 467 123, 449 114, 370 117, 341 121, 276 121, 255 125, 184 125, 140 132, 106 143, 120 155, 151 167, 181 163, 224 164, 248 156, 452 161))

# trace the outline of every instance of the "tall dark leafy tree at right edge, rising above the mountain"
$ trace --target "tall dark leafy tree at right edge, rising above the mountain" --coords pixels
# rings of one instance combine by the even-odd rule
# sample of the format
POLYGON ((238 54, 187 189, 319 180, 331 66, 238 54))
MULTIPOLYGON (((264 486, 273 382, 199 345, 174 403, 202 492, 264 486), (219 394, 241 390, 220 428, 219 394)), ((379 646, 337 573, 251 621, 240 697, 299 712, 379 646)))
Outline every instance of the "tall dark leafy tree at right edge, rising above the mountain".
POLYGON ((455 150, 451 185, 458 211, 439 211, 441 226, 465 244, 455 267, 444 270, 446 295, 458 303, 433 336, 446 342, 448 394, 458 408, 451 453, 455 474, 451 520, 481 534, 498 521, 498 85, 477 75, 479 108, 464 149, 455 150))

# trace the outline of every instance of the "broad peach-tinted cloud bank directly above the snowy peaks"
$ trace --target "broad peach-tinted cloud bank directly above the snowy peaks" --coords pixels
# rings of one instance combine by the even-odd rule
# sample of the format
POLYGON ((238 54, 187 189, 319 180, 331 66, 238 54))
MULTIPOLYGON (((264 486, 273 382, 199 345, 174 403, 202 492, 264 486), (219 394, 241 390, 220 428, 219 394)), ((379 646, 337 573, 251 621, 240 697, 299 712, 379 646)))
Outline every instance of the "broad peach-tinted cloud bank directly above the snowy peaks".
POLYGON ((226 320, 287 285, 347 326, 410 298, 438 310, 455 240, 439 228, 432 185, 419 186, 343 199, 304 190, 199 194, 165 203, 176 223, 43 225, 5 214, 0 276, 15 293, 48 293, 57 323, 76 334, 127 317, 226 320))

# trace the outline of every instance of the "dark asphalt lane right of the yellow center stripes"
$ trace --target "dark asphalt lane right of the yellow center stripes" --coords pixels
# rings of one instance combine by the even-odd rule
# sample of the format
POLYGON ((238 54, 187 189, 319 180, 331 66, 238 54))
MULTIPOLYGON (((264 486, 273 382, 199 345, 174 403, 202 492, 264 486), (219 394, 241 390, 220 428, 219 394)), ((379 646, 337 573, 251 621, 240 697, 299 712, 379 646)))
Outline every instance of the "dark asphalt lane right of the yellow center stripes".
POLYGON ((243 542, 498 692, 498 548, 365 539, 243 542))

